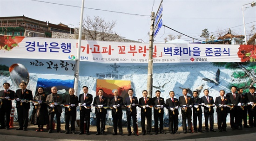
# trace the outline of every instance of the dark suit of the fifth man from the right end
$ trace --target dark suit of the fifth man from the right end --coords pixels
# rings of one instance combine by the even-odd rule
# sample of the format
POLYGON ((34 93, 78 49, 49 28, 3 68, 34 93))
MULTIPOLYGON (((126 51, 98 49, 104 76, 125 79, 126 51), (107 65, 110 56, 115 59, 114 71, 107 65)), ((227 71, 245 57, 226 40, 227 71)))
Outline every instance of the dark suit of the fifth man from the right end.
MULTIPOLYGON (((207 98, 205 96, 202 96, 201 97, 201 102, 204 103, 204 104, 214 104, 214 100, 213 100, 213 97, 212 96, 209 96, 209 102, 207 100, 207 98)), ((213 124, 214 124, 214 117, 213 117, 213 114, 214 114, 214 109, 213 109, 213 106, 210 106, 210 110, 209 108, 207 108, 205 106, 203 106, 203 113, 204 113, 204 124, 205 124, 205 129, 206 131, 209 130, 209 125, 208 125, 208 121, 210 119, 210 130, 213 130, 213 124)))

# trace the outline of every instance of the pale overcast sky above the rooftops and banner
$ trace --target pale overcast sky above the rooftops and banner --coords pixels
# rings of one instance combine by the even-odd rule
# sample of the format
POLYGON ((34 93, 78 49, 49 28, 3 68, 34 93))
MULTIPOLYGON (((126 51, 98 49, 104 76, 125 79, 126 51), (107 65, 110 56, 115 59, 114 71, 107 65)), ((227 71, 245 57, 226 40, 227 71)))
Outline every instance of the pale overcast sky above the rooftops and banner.
MULTIPOLYGON (((148 43, 150 13, 157 12, 160 2, 161 0, 85 0, 83 17, 100 16, 106 21, 116 21, 114 31, 119 35, 148 43)), ((204 40, 200 35, 205 28, 216 38, 218 31, 224 32, 229 28, 233 31, 232 34, 244 35, 242 6, 251 2, 253 0, 163 0, 163 25, 200 40, 204 40)), ((82 0, 0 0, 0 17, 24 15, 53 24, 72 24, 74 28, 79 27, 81 3, 82 0)), ((256 6, 243 7, 246 32, 249 34, 252 26, 256 28, 256 6)), ((154 38, 155 42, 163 42, 168 34, 178 33, 162 26, 154 38)), ((182 39, 193 42, 184 35, 182 39)))

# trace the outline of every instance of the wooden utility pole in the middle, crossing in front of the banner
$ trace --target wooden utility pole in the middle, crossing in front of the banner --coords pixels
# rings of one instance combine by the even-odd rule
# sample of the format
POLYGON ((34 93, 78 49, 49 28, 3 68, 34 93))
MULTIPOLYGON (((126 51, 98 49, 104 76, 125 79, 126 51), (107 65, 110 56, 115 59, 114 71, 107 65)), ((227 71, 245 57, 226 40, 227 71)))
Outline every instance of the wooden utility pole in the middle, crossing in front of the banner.
POLYGON ((150 35, 149 35, 149 50, 148 50, 148 97, 152 97, 152 75, 153 75, 153 42, 154 42, 154 24, 155 22, 155 12, 151 13, 151 25, 150 25, 150 35))

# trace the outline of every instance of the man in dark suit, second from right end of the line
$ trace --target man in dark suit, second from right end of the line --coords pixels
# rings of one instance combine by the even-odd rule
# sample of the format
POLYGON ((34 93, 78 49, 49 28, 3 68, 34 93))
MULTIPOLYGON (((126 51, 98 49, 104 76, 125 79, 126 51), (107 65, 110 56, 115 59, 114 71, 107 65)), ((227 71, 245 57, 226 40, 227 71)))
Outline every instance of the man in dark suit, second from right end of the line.
POLYGON ((249 126, 247 124, 248 106, 244 106, 245 104, 247 104, 247 97, 245 96, 245 94, 243 94, 242 88, 238 88, 237 92, 238 92, 239 96, 241 97, 240 103, 243 106, 243 109, 241 109, 241 115, 240 115, 241 119, 239 122, 239 126, 242 127, 242 122, 243 122, 243 127, 249 128, 249 126))

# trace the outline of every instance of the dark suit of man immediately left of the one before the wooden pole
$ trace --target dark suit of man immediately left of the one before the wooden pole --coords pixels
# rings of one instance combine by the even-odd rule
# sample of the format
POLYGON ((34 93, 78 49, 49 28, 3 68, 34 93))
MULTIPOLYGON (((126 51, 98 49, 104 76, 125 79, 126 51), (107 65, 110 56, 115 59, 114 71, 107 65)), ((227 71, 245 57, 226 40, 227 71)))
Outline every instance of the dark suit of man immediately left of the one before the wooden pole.
MULTIPOLYGON (((124 100, 124 105, 129 104, 138 104, 138 98, 133 96, 132 102, 130 102, 130 96, 126 97, 124 100)), ((135 134, 137 133, 137 105, 131 106, 131 108, 126 108, 126 117, 127 117, 127 131, 128 134, 131 134, 131 117, 133 118, 133 131, 135 134)))

